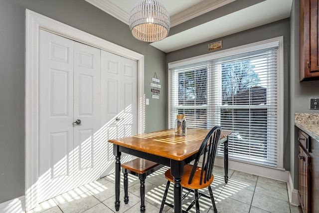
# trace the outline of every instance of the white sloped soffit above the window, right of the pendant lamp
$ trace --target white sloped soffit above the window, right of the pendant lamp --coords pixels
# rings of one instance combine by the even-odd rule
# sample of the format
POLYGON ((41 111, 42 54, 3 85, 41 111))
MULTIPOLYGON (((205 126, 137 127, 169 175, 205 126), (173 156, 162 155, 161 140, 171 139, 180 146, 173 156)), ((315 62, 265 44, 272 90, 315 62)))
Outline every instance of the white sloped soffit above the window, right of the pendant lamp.
MULTIPOLYGON (((290 17, 292 0, 265 0, 151 43, 171 52, 290 17)), ((207 43, 208 48, 208 43, 207 43)))

